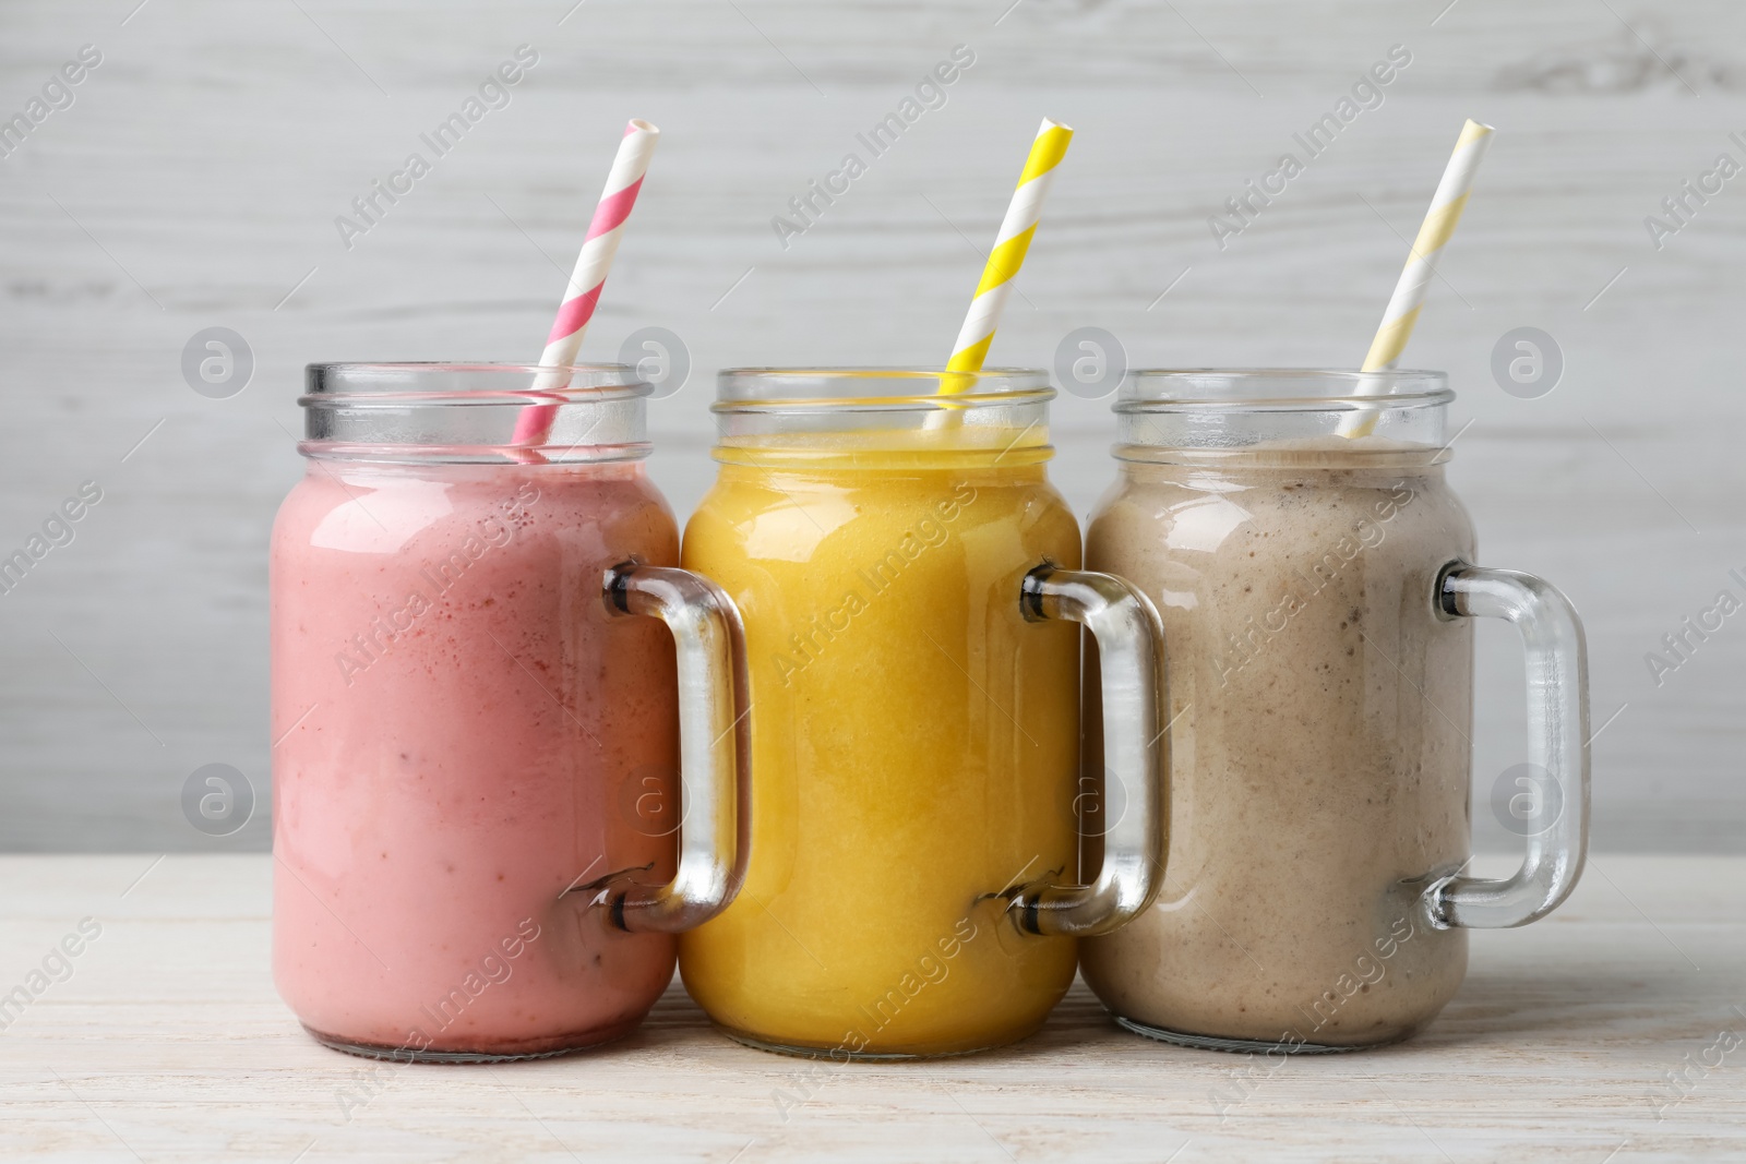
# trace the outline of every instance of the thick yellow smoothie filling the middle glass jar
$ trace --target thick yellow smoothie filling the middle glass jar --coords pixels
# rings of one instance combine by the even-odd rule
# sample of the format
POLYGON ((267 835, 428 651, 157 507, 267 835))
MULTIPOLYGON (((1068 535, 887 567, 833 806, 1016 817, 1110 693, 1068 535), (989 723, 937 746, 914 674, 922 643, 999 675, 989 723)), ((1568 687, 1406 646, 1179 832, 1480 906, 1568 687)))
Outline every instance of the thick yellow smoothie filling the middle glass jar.
POLYGON ((953 426, 716 457, 683 562, 746 621, 753 857, 681 937, 686 988, 740 1038, 838 1059, 1028 1035, 1076 958, 1004 916, 1077 862, 1079 628, 1020 611, 1030 569, 1079 567, 1048 445, 953 426))

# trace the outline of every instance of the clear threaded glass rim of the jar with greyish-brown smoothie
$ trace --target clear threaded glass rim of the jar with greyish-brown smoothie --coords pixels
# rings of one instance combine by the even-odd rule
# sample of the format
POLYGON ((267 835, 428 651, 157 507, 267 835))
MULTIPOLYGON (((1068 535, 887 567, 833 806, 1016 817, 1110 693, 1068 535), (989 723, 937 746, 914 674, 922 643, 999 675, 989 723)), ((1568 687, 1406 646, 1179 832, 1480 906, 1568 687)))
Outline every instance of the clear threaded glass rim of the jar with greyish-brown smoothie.
POLYGON ((1454 400, 1449 375, 1423 368, 1130 368, 1116 412, 1325 412, 1439 408, 1454 400))

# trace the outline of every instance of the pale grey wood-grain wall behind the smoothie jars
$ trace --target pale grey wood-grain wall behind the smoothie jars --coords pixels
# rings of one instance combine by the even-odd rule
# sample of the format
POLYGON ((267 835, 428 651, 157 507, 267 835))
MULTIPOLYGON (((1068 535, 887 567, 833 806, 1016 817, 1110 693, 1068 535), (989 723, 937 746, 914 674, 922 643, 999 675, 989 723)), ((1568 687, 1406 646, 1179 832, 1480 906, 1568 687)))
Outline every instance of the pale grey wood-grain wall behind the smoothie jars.
MULTIPOLYGON (((716 368, 945 359, 1049 115, 1077 136, 990 363, 1102 328, 1131 366, 1355 366, 1461 120, 1496 126, 1406 365, 1460 393, 1481 560, 1587 621, 1596 848, 1741 852, 1746 614, 1678 660, 1662 640, 1746 599, 1743 91, 1720 0, 5 0, 0 557, 31 565, 0 593, 0 848, 267 848, 265 553, 302 366, 534 359, 629 117, 663 138, 583 358, 683 344, 651 405, 683 520, 716 368), (436 157, 421 134, 519 49, 436 157), (953 52, 875 157, 857 134, 953 52), (1231 215, 1327 113, 1334 141, 1231 215), (412 152, 430 173, 342 230, 412 152), (798 218, 850 152, 866 173, 798 218), (241 342, 203 380, 211 328, 241 342), (1498 372, 1519 328, 1543 333, 1526 380, 1498 372), (206 764, 255 798, 225 838, 183 811, 206 764)), ((1109 400, 1056 403, 1081 513, 1110 435, 1109 400)), ((1479 656, 1475 832, 1505 848, 1519 647, 1488 625, 1479 656)))

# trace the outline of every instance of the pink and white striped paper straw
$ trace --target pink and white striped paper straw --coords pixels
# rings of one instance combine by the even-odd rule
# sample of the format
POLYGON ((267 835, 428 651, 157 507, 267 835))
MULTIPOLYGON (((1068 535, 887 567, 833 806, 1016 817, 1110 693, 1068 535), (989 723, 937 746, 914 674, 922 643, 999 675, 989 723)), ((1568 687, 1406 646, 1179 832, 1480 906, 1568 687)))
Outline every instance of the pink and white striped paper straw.
MULTIPOLYGON (((618 143, 618 157, 606 176, 606 190, 601 204, 594 208, 594 222, 588 223, 588 237, 576 255, 576 269, 564 288, 564 302, 559 304, 557 319, 552 323, 552 335, 546 337, 545 351, 540 353, 540 366, 557 368, 541 372, 531 391, 550 393, 569 386, 567 368, 576 363, 576 351, 581 337, 594 318, 594 307, 601 302, 601 288, 606 286, 606 274, 613 269, 613 257, 618 255, 618 241, 625 236, 625 220, 636 206, 637 190, 643 188, 643 175, 648 173, 655 143, 660 141, 660 129, 646 120, 632 119, 625 126, 625 140, 618 143)), ((512 445, 541 445, 552 431, 557 417, 557 405, 529 405, 515 419, 512 445)), ((534 454, 538 455, 538 454, 534 454)))

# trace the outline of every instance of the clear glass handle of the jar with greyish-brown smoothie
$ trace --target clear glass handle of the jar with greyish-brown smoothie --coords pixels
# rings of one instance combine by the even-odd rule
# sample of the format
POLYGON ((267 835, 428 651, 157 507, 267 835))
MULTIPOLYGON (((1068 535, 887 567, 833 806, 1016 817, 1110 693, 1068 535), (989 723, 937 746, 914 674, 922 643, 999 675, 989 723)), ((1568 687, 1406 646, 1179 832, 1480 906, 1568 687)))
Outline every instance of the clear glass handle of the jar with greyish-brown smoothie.
POLYGON ((1547 773, 1557 817, 1528 839, 1516 876, 1446 876, 1423 902, 1440 930, 1502 930, 1552 913, 1577 887, 1589 852, 1589 647, 1556 586, 1517 571, 1451 562, 1437 579, 1442 618, 1503 618, 1528 654, 1528 763, 1547 773))

